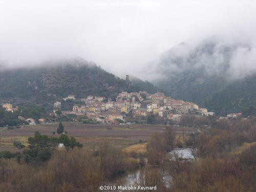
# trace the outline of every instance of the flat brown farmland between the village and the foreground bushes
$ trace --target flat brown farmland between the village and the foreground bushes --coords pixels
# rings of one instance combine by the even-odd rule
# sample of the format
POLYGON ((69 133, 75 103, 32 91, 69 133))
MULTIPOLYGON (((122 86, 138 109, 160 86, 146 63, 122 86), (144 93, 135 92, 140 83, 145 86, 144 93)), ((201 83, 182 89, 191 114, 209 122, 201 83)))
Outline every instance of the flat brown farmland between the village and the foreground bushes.
MULTIPOLYGON (((133 144, 146 142, 153 134, 161 133, 165 129, 164 125, 152 124, 118 125, 65 122, 63 125, 69 136, 74 136, 84 147, 92 150, 97 147, 97 143, 102 138, 110 140, 114 145, 125 148, 133 144)), ((27 138, 33 136, 36 131, 40 132, 41 135, 52 136, 57 127, 57 123, 51 123, 25 125, 14 130, 3 129, 0 131, 0 151, 17 151, 13 146, 14 141, 21 141, 26 145, 27 138)), ((177 135, 184 132, 195 132, 195 129, 187 127, 174 127, 174 130, 177 135)))

